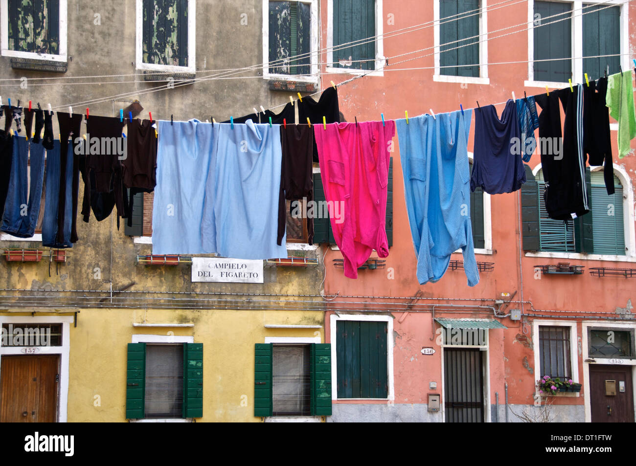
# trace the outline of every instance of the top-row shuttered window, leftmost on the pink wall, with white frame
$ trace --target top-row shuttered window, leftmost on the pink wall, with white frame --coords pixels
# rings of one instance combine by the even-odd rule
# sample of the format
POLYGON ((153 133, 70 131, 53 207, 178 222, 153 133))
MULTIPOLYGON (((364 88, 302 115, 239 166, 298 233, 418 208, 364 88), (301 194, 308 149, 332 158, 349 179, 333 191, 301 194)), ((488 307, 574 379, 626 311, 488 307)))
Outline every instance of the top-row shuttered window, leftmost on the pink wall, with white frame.
POLYGON ((366 71, 384 65, 382 0, 329 0, 329 12, 328 62, 334 69, 366 71))

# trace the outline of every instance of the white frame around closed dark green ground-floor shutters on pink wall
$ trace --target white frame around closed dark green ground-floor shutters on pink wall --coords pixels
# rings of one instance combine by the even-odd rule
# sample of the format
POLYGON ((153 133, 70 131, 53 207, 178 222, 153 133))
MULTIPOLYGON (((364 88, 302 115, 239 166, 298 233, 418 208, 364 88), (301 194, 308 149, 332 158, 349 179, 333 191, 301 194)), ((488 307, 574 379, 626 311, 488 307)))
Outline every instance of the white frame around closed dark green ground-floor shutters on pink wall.
POLYGON ((329 339, 331 339, 331 399, 340 401, 378 401, 394 400, 393 385, 393 317, 391 315, 368 314, 331 314, 329 316, 329 339), (338 398, 338 357, 336 348, 336 322, 356 320, 360 322, 387 322, 387 383, 389 392, 386 398, 338 398))

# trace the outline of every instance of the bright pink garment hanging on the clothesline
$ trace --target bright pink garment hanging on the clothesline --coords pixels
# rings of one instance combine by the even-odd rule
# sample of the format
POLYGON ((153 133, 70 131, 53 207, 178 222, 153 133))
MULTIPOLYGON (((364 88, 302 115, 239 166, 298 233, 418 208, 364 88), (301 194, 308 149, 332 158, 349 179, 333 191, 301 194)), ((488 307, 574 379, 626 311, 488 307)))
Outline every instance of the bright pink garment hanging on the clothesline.
MULTIPOLYGON (((303 99, 305 100, 305 99, 303 99)), ((394 121, 366 121, 314 126, 329 220, 344 258, 345 277, 375 249, 389 256, 385 230, 389 183, 389 141, 394 121)), ((326 212, 325 212, 326 213, 326 212)))

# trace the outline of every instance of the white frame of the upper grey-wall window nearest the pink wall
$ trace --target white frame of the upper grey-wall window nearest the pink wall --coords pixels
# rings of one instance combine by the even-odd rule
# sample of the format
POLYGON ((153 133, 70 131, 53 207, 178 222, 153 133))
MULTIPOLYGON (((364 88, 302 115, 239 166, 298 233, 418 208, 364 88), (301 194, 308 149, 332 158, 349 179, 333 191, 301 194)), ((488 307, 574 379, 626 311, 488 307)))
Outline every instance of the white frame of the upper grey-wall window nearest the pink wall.
POLYGON ((294 74, 270 73, 270 1, 283 0, 263 0, 263 79, 284 79, 285 81, 299 81, 318 84, 318 0, 295 0, 300 3, 310 4, 310 69, 311 76, 298 76, 294 74))

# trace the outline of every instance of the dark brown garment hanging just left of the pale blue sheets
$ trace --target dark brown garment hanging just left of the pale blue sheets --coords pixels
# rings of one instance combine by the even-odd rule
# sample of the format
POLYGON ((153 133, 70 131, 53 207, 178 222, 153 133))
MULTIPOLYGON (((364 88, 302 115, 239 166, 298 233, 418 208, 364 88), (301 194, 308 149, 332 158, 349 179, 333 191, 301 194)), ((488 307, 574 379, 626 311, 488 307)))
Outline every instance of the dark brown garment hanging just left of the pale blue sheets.
MULTIPOLYGON (((157 138, 150 120, 128 121, 126 158, 121 160, 123 185, 130 189, 128 212, 137 193, 152 193, 156 186, 157 138)), ((132 226, 132 215, 128 215, 132 226)))

